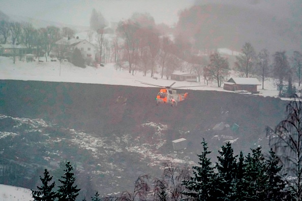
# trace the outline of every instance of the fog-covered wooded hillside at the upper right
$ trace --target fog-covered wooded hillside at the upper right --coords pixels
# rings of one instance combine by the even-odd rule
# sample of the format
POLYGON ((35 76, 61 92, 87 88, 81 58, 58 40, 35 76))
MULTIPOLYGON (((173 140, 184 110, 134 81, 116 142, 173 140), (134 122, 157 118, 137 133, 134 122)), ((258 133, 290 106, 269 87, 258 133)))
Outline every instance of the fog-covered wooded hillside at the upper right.
POLYGON ((195 40, 197 48, 240 50, 250 42, 256 51, 292 51, 301 48, 301 22, 280 13, 240 5, 207 4, 180 13, 177 30, 195 40))

